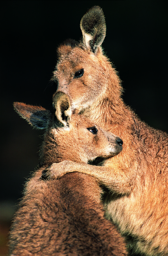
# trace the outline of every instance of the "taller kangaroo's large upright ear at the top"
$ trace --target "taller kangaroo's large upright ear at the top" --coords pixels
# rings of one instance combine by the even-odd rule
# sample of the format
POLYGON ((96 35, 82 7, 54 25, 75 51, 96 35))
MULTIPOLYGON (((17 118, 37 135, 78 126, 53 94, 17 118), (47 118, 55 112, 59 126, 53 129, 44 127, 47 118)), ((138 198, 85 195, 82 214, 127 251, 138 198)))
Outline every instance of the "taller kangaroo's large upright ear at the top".
POLYGON ((83 43, 87 48, 91 48, 96 53, 106 35, 106 23, 102 9, 99 6, 93 6, 82 17, 80 28, 83 35, 83 43))

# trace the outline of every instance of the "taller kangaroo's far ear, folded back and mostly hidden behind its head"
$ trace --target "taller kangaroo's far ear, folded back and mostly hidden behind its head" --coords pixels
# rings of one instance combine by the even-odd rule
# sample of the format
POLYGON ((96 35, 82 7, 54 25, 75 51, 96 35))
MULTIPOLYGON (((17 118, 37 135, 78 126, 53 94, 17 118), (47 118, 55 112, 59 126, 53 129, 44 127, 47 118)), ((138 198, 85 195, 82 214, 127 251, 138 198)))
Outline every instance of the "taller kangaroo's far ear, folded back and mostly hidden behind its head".
POLYGON ((67 39, 65 40, 58 48, 57 48, 57 55, 60 58, 62 55, 68 54, 73 47, 75 47, 78 44, 73 39, 67 39))

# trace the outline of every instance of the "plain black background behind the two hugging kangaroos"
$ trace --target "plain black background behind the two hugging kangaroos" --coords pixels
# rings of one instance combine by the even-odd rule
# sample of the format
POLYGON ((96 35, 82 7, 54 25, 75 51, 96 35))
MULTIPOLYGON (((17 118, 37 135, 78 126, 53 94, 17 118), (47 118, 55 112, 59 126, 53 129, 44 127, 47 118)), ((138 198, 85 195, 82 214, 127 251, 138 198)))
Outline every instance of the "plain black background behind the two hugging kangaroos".
POLYGON ((13 102, 50 108, 56 47, 81 37, 80 20, 100 5, 106 55, 123 81, 124 101, 149 125, 168 132, 166 1, 0 1, 1 199, 10 220, 26 177, 38 164, 43 132, 13 110, 13 102))

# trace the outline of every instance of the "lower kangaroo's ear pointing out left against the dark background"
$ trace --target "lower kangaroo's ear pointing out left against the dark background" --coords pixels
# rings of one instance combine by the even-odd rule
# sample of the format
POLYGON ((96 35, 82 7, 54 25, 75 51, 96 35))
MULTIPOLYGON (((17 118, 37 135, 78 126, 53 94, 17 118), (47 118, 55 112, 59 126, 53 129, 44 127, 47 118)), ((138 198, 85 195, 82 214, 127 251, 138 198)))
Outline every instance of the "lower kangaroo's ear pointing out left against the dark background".
POLYGON ((46 129, 51 118, 49 110, 38 106, 31 106, 20 102, 14 102, 13 106, 18 114, 29 124, 38 129, 46 129))

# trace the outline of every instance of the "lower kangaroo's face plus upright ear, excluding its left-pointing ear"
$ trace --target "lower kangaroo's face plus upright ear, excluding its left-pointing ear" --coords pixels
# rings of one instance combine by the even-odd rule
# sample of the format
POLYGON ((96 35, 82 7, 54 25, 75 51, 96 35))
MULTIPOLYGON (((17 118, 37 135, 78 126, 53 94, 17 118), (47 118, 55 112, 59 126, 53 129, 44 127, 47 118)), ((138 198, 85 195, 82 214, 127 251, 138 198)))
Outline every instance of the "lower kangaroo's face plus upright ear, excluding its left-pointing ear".
POLYGON ((62 159, 88 162, 96 157, 111 157, 122 150, 122 140, 96 126, 83 115, 72 114, 69 97, 53 96, 54 115, 49 134, 53 134, 62 159), (59 143, 58 143, 59 142, 59 143))

